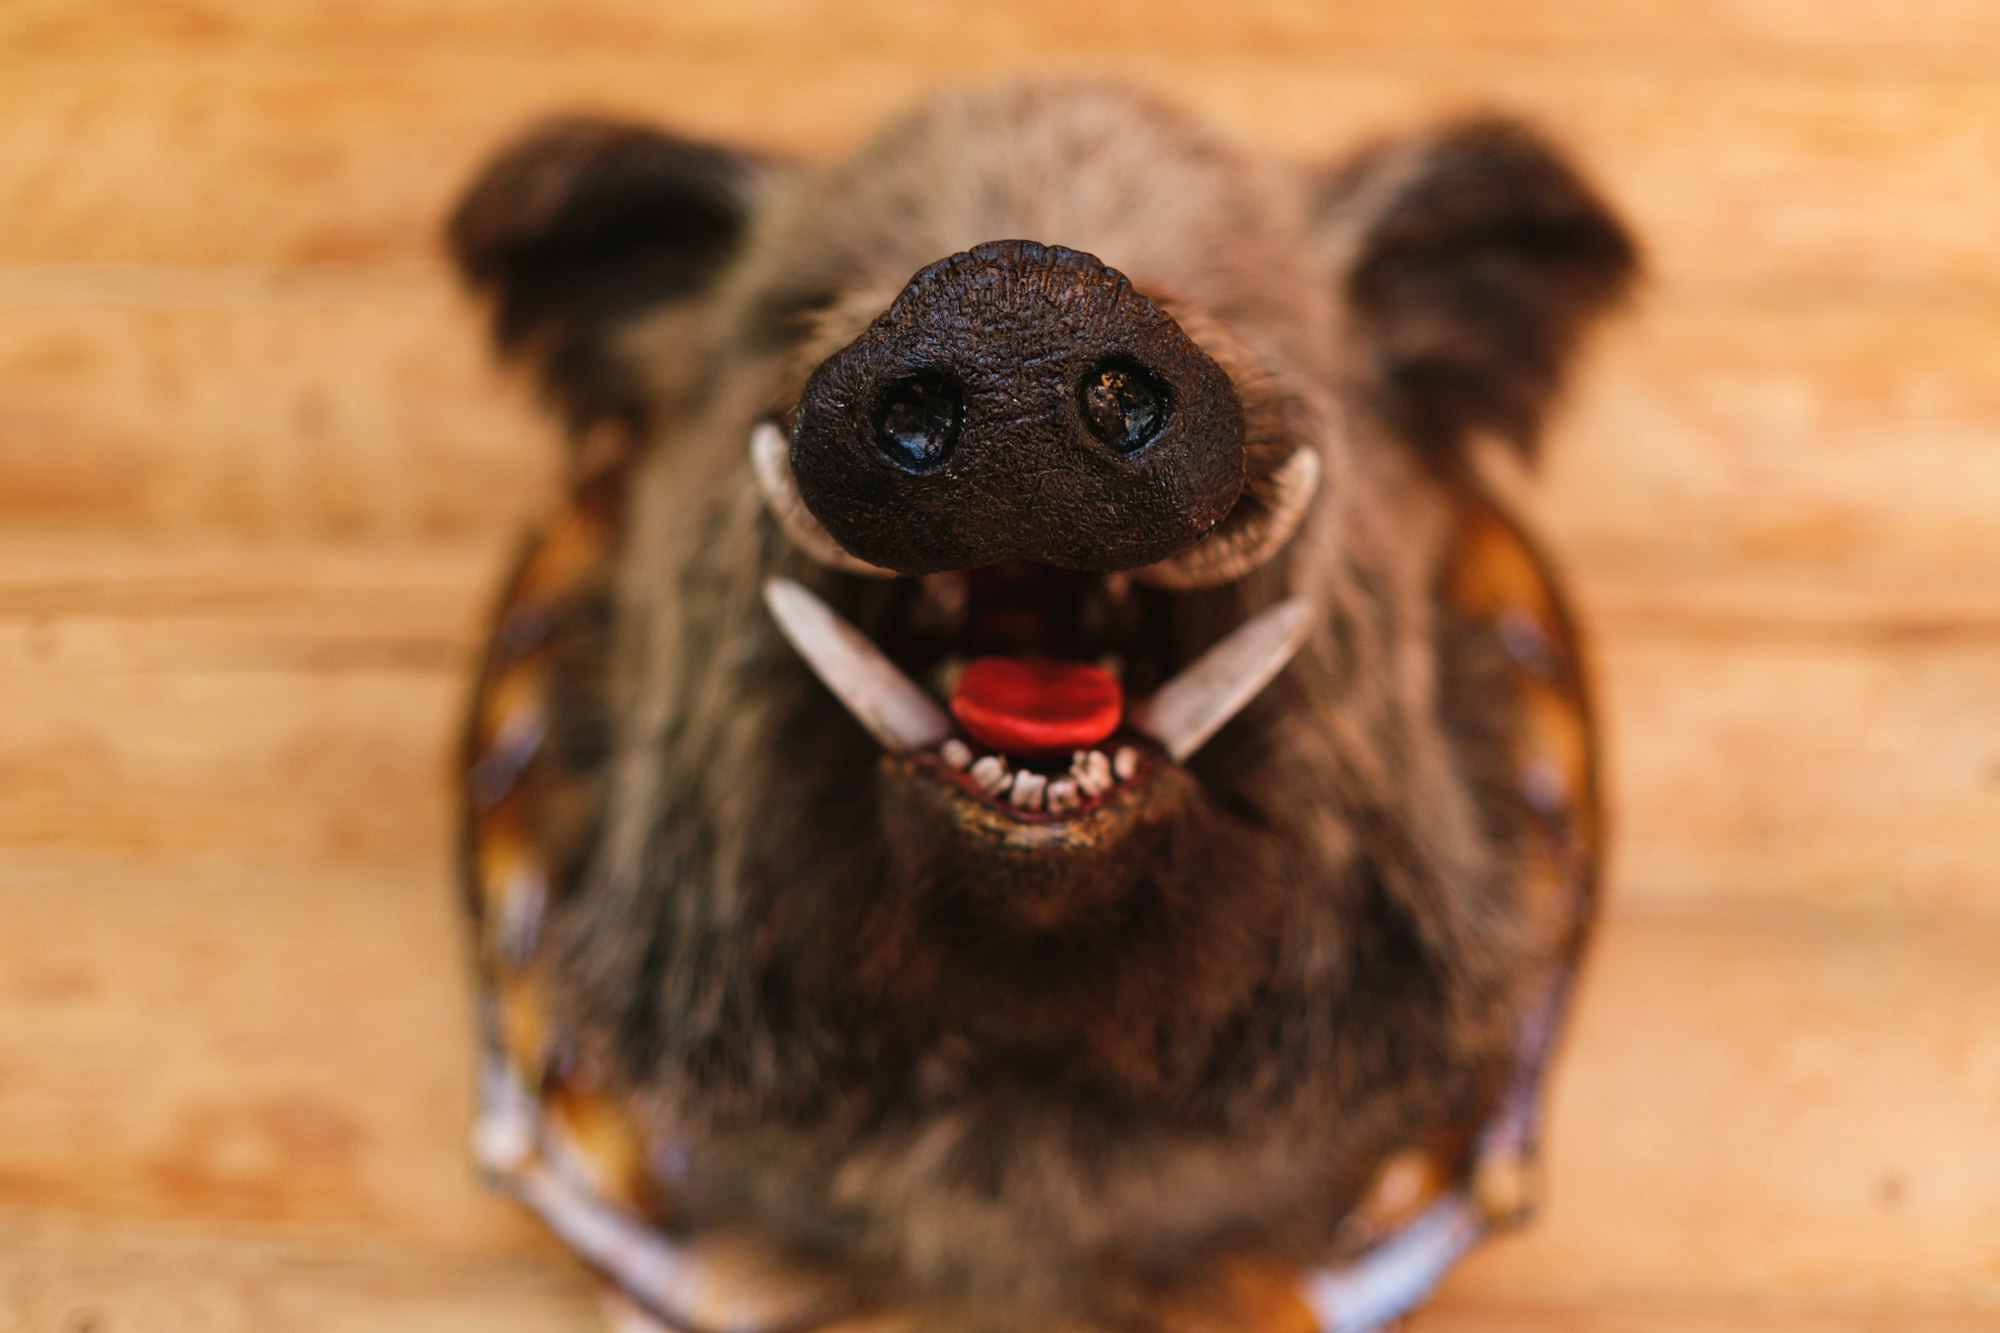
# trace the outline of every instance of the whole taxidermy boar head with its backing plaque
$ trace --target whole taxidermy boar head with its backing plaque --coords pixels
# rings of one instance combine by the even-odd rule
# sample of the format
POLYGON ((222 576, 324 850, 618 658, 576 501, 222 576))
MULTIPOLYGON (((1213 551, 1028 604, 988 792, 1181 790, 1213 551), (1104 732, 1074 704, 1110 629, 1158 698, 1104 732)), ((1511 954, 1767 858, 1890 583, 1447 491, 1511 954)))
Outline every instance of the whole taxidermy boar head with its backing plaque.
POLYGON ((618 1319, 1354 1333, 1528 1215, 1600 815, 1486 478, 1636 266, 1548 142, 564 118, 450 246, 568 448, 468 731, 476 1151, 618 1319))

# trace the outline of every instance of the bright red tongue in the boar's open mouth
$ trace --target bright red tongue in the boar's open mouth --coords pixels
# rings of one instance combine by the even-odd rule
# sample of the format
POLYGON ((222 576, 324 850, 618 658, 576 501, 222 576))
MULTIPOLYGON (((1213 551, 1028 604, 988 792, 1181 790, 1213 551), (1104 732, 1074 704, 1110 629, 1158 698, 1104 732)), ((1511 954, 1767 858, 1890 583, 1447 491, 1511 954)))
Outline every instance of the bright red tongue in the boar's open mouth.
POLYGON ((952 717, 976 741, 1006 755, 1088 751, 1118 731, 1124 691, 1084 662, 1020 662, 980 656, 952 691, 952 717))

